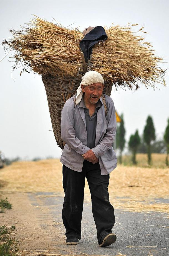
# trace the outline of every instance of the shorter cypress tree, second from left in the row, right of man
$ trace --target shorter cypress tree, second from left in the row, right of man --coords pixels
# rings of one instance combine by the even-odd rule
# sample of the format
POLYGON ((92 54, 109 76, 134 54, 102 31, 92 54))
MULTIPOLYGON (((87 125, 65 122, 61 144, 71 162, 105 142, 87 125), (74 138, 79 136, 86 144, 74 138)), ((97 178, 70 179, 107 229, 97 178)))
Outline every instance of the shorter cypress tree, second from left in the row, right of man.
POLYGON ((137 153, 137 149, 138 149, 138 146, 140 145, 140 136, 138 134, 138 130, 136 130, 135 134, 134 135, 131 135, 130 136, 130 140, 128 142, 128 146, 130 148, 130 150, 132 151, 132 162, 134 165, 137 164, 137 161, 136 161, 136 153, 137 153))

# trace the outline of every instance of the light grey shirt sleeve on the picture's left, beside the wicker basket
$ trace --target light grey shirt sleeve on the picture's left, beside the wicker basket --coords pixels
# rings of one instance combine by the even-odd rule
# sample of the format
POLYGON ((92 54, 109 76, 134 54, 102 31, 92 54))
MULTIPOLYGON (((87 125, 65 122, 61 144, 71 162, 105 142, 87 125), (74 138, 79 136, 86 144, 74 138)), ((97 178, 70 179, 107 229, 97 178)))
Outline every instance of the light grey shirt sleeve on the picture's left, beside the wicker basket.
POLYGON ((74 130, 74 117, 73 108, 65 103, 61 111, 61 138, 67 143, 74 151, 79 154, 85 154, 90 150, 89 147, 85 146, 77 137, 74 130))

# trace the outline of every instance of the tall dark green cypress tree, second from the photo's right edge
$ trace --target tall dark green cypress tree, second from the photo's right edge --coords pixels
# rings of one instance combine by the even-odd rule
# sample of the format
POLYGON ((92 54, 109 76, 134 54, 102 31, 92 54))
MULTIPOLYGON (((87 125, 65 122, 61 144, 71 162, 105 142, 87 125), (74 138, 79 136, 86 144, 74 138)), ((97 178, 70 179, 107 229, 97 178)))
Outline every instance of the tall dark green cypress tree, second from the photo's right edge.
POLYGON ((143 139, 147 144, 147 155, 148 155, 148 164, 151 164, 151 141, 155 141, 155 128, 153 124, 153 119, 151 116, 147 117, 146 125, 143 131, 143 139))

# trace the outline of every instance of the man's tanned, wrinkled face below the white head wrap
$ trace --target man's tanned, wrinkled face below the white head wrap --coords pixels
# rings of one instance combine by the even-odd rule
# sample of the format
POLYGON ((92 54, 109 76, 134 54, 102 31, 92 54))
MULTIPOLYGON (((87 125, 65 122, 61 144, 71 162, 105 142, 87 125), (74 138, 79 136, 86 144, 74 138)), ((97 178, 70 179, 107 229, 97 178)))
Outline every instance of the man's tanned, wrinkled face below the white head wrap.
POLYGON ((87 86, 81 85, 82 91, 85 93, 85 98, 92 104, 95 104, 100 99, 104 84, 102 83, 94 83, 87 86))

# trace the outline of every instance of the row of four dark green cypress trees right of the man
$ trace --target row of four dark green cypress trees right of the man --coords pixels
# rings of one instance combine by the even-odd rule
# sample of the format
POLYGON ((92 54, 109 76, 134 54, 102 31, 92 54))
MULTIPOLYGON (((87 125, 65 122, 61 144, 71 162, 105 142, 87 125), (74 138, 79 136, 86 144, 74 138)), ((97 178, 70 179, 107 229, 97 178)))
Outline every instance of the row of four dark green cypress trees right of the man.
MULTIPOLYGON (((153 120, 151 116, 147 117, 146 120, 146 125, 144 127, 144 131, 143 131, 143 141, 141 140, 141 137, 138 134, 138 130, 136 130, 135 134, 132 134, 130 136, 129 142, 128 142, 128 147, 130 149, 130 151, 132 152, 132 161, 133 164, 136 164, 136 154, 138 152, 142 152, 141 149, 145 150, 146 148, 146 152, 143 153, 147 153, 148 155, 148 164, 151 164, 151 152, 152 152, 152 146, 159 147, 161 145, 163 145, 163 148, 165 147, 167 150, 167 156, 166 156, 166 165, 169 166, 169 161, 168 161, 168 155, 169 155, 169 119, 168 119, 168 124, 167 127, 165 129, 165 133, 164 133, 164 142, 160 141, 160 142, 156 142, 154 143, 154 145, 152 145, 152 142, 155 141, 156 136, 155 136, 155 128, 154 128, 154 124, 153 124, 153 120), (141 146, 141 147, 140 147, 141 146), (140 147, 140 150, 139 150, 140 147)), ((122 152, 125 148, 125 127, 124 127, 124 120, 123 120, 123 115, 121 115, 121 122, 120 122, 120 126, 117 129, 117 148, 120 149, 120 156, 119 156, 119 161, 120 163, 122 163, 122 152)), ((158 151, 159 152, 159 151, 158 151)))

